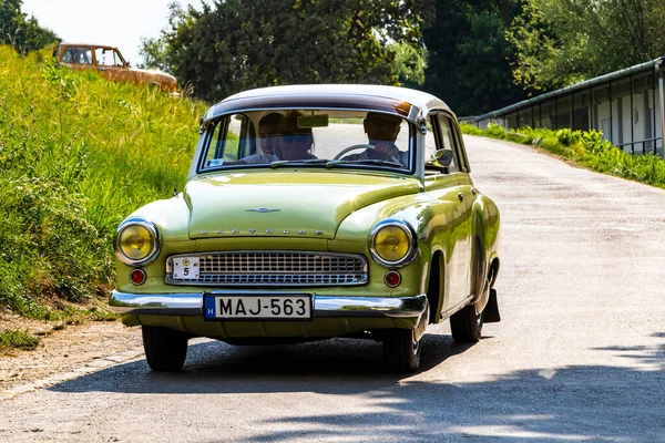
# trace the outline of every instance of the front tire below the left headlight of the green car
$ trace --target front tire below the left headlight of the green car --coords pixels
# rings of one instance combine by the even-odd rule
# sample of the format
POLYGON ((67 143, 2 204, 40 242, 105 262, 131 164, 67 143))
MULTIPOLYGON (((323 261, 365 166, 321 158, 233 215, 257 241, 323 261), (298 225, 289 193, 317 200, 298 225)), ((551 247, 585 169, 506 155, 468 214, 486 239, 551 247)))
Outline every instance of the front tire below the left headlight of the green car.
POLYGON ((188 336, 170 328, 141 327, 145 360, 153 371, 178 371, 187 357, 188 336))

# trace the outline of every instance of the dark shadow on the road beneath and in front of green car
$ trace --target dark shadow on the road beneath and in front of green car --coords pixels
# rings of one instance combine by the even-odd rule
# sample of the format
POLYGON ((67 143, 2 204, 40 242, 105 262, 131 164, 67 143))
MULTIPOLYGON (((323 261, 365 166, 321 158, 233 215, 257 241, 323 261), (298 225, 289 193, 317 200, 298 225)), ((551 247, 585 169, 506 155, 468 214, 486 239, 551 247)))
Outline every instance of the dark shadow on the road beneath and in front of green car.
MULTIPOLYGON (((665 339, 665 333, 653 337, 665 339)), ((424 346, 422 372, 469 349, 448 336, 433 334, 426 336, 424 346)), ((192 347, 181 373, 152 373, 145 361, 136 361, 51 390, 315 392, 324 394, 323 404, 337 404, 338 396, 345 395, 344 413, 339 408, 332 408, 335 413, 326 413, 325 408, 304 412, 297 402, 289 403, 290 398, 272 419, 248 416, 244 425, 266 430, 253 434, 253 441, 263 442, 375 441, 379 435, 381 441, 406 442, 664 441, 665 342, 594 351, 622 357, 625 365, 522 370, 453 384, 427 381, 423 373, 408 378, 383 372, 380 344, 369 341, 338 339, 278 348, 205 342, 192 347), (355 405, 366 412, 359 414, 355 405)))

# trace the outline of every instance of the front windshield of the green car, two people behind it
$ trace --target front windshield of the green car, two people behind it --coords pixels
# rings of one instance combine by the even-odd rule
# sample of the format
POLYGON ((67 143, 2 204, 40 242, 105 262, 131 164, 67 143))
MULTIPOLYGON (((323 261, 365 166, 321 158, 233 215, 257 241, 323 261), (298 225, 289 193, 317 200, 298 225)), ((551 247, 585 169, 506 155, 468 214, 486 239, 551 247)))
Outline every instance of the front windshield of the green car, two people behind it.
POLYGON ((410 171, 412 124, 397 114, 346 110, 254 111, 204 128, 200 172, 282 166, 410 171))

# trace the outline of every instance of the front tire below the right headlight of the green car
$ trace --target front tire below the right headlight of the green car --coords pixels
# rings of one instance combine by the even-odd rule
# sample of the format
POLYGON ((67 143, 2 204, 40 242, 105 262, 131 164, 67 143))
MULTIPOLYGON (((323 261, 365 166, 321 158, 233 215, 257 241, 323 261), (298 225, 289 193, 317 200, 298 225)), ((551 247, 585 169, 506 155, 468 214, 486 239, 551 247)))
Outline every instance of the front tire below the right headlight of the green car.
POLYGON ((383 361, 392 372, 415 372, 420 367, 422 339, 415 340, 413 329, 389 329, 383 337, 383 361))

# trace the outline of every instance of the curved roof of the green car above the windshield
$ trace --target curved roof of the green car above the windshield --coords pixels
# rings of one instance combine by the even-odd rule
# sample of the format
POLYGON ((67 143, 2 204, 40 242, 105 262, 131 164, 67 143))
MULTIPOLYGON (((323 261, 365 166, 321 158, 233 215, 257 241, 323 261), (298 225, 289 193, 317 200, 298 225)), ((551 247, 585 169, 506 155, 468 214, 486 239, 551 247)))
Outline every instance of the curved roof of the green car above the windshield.
POLYGON ((298 84, 244 91, 213 105, 204 121, 238 111, 269 109, 348 107, 382 111, 418 121, 431 110, 451 112, 427 92, 376 84, 298 84), (403 103, 410 106, 405 106, 403 103))

